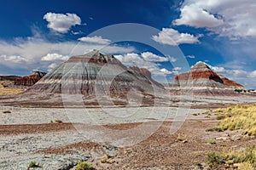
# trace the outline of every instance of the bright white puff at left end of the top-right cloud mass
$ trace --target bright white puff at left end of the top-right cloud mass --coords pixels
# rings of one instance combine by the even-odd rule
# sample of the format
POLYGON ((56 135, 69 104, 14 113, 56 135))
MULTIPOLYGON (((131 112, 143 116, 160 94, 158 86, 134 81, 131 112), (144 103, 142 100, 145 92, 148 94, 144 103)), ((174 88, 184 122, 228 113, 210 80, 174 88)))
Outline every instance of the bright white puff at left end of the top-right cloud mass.
POLYGON ((209 14, 205 9, 195 4, 185 5, 181 8, 180 19, 174 20, 174 25, 187 25, 194 27, 216 27, 224 24, 223 20, 209 14))

